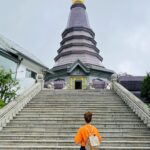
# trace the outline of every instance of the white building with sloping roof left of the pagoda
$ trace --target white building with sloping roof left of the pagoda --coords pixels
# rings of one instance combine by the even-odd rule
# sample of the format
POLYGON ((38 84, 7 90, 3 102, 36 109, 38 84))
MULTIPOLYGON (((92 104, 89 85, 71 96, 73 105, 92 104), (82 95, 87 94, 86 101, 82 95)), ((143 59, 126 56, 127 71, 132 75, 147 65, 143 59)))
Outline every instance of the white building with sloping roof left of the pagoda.
POLYGON ((34 55, 2 35, 0 35, 0 67, 11 70, 16 79, 35 79, 37 74, 44 75, 48 71, 48 67, 34 55))

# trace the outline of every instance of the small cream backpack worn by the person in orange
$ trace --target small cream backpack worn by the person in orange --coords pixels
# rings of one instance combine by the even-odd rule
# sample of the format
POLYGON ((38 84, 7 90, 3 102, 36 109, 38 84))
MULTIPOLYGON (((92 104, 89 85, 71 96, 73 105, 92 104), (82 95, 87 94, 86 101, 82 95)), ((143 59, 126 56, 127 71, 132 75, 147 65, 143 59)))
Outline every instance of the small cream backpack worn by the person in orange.
MULTIPOLYGON (((93 131, 94 127, 92 127, 92 131, 93 131)), ((86 142, 86 150, 98 150, 99 146, 100 146, 100 142, 99 139, 96 135, 92 135, 92 131, 89 132, 89 130, 87 129, 89 136, 86 142)))

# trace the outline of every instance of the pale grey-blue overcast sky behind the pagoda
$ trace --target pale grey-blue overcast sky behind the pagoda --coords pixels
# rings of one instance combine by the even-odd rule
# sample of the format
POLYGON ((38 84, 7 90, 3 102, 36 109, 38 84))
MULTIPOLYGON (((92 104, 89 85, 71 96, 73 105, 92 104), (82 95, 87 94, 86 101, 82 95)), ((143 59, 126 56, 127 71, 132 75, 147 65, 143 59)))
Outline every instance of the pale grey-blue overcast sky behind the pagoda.
MULTIPOLYGON (((0 0, 0 34, 54 65, 71 0, 0 0)), ((133 75, 150 72, 150 0, 87 0, 103 65, 133 75)))

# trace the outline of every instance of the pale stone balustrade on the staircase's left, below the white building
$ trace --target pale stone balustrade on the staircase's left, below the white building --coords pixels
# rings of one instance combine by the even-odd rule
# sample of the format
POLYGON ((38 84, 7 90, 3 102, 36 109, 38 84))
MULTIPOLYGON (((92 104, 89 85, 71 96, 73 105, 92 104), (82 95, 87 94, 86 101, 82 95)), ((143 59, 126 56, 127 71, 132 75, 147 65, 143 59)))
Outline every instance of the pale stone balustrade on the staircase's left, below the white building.
POLYGON ((40 82, 32 85, 27 91, 11 101, 8 105, 0 110, 0 130, 18 114, 19 111, 40 91, 42 85, 40 82))

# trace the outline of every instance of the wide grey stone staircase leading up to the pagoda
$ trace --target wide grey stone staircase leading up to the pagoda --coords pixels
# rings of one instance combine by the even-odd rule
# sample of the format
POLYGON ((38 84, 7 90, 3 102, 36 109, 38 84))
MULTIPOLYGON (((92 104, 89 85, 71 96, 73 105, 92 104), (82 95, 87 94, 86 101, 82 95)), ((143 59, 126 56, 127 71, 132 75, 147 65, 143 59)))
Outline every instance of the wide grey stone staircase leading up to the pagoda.
POLYGON ((150 128, 114 92, 41 91, 0 132, 1 150, 79 150, 83 114, 93 112, 101 150, 150 150, 150 128))

